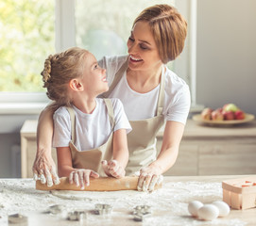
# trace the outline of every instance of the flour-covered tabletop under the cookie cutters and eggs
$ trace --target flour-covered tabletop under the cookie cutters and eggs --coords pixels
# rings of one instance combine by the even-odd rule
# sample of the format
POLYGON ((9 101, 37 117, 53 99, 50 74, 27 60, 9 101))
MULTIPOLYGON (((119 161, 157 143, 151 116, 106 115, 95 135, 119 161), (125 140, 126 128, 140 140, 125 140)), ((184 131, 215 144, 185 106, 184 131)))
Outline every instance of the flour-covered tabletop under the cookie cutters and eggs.
POLYGON ((28 218, 28 225, 256 225, 256 208, 231 210, 226 218, 203 221, 192 218, 188 203, 210 203, 222 200, 221 182, 245 177, 229 176, 166 176, 161 189, 153 193, 138 191, 83 192, 82 200, 63 199, 49 191, 35 189, 32 179, 0 179, 0 225, 8 225, 8 215, 20 213, 28 218), (111 204, 110 216, 94 214, 94 204, 111 204), (84 210, 82 222, 69 221, 63 215, 47 213, 49 206, 61 204, 67 211, 84 210), (152 213, 143 222, 131 215, 137 205, 150 205, 152 213))

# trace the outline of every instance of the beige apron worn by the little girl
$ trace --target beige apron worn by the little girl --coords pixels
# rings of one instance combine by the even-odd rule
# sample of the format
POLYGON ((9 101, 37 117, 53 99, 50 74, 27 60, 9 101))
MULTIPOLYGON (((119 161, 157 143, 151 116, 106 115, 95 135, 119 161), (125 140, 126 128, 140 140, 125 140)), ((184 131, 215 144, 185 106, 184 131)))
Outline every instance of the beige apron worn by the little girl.
MULTIPOLYGON (((111 131, 114 127, 114 117, 113 117, 113 108, 110 99, 104 99, 105 104, 107 105, 109 119, 111 121, 111 131)), ((72 107, 67 107, 70 118, 71 118, 71 131, 72 131, 72 140, 69 143, 69 147, 72 155, 72 164, 73 168, 76 169, 93 169, 98 172, 100 176, 106 176, 104 170, 101 167, 102 160, 111 160, 112 158, 112 132, 111 136, 108 138, 107 142, 101 145, 98 148, 87 150, 87 151, 78 151, 75 146, 76 142, 76 117, 75 111, 72 107)))

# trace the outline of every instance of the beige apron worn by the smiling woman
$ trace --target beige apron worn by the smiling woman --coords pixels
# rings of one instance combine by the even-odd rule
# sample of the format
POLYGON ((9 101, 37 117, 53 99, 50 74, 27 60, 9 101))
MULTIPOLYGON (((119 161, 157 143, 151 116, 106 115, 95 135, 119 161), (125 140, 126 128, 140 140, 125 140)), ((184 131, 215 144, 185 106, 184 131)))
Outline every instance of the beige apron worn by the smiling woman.
MULTIPOLYGON (((111 91, 115 88, 127 69, 128 61, 126 61, 115 74, 110 89, 103 94, 104 97, 109 97, 111 91)), ((128 134, 129 158, 128 166, 126 168, 127 175, 133 174, 135 171, 148 166, 151 162, 156 160, 156 136, 164 123, 164 117, 162 115, 162 107, 164 104, 164 81, 165 73, 164 67, 162 67, 156 116, 141 121, 129 121, 132 131, 128 134)))

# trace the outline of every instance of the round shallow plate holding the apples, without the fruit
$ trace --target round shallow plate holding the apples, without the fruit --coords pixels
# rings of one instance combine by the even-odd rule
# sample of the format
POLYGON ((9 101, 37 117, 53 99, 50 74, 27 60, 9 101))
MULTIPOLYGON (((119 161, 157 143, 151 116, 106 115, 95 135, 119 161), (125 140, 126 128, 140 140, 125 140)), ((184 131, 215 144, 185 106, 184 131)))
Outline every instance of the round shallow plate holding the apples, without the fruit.
POLYGON ((194 115, 192 117, 194 121, 206 123, 209 125, 234 125, 234 124, 242 124, 249 121, 254 120, 254 115, 246 114, 246 118, 244 120, 233 120, 233 121, 210 121, 210 120, 204 120, 200 114, 194 115))

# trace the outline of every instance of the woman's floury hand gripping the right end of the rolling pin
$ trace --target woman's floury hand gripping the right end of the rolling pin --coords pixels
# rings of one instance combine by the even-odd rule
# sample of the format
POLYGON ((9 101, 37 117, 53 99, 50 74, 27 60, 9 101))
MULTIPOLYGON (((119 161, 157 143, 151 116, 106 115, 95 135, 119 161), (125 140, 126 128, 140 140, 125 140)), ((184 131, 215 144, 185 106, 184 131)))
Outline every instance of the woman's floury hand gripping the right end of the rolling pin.
POLYGON ((137 189, 138 191, 153 191, 156 185, 160 185, 163 180, 162 170, 156 166, 149 165, 140 170, 140 177, 137 189))

